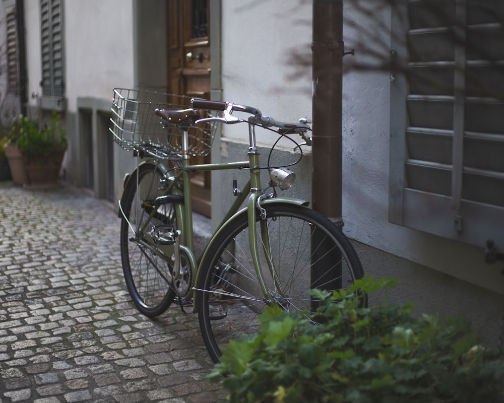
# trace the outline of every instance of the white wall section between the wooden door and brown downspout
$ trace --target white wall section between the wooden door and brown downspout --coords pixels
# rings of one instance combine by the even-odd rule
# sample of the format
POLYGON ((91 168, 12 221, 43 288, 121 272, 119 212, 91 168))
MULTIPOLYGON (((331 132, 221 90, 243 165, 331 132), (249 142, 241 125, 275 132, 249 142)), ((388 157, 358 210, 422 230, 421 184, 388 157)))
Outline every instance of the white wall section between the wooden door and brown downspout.
MULTIPOLYGON (((292 63, 292 51, 311 44, 311 2, 222 1, 223 100, 259 108, 280 121, 311 116, 311 67, 292 63)), ((258 132, 259 133, 259 132, 258 132)), ((246 127, 225 127, 226 137, 246 138, 246 127)), ((258 136, 271 144, 275 135, 258 136)))

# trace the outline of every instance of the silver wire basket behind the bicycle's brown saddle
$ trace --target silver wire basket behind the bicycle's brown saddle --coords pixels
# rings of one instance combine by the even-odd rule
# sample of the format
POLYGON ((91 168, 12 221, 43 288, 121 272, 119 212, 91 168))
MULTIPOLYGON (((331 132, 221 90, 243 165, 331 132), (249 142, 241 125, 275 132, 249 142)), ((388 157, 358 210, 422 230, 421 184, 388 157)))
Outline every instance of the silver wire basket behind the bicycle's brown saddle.
MULTIPOLYGON (((151 156, 178 159, 182 156, 182 133, 178 127, 154 113, 159 109, 187 109, 191 97, 163 92, 114 88, 110 132, 124 150, 143 151, 151 156)), ((201 111, 200 111, 201 112, 201 111)), ((201 117, 208 117, 208 112, 201 117)), ((188 130, 188 152, 205 156, 210 152, 216 122, 192 125, 188 130)))

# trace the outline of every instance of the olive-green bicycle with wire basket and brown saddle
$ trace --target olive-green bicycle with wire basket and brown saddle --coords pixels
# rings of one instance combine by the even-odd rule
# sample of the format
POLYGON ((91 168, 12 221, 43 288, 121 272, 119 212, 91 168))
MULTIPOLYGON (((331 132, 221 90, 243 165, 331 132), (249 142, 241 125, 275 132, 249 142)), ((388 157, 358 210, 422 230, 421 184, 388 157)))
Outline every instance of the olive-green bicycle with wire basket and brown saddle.
POLYGON ((279 122, 230 102, 114 89, 110 131, 137 157, 119 201, 125 283, 147 316, 160 315, 175 298, 180 304, 192 299, 214 362, 229 340, 258 330, 265 306, 308 315, 317 301, 307 290, 346 288, 363 276, 354 248, 330 220, 304 200, 278 196, 277 187, 292 184, 292 171, 272 165, 271 152, 268 166, 259 164, 256 127, 293 141, 299 156, 290 166, 302 158, 301 146, 311 145, 309 123, 279 122), (248 125, 248 159, 192 164, 191 156, 209 153, 219 123, 248 125), (228 169, 247 170, 248 182, 238 189, 234 181, 234 203, 195 256, 190 174, 228 169), (269 192, 261 187, 265 170, 269 192))

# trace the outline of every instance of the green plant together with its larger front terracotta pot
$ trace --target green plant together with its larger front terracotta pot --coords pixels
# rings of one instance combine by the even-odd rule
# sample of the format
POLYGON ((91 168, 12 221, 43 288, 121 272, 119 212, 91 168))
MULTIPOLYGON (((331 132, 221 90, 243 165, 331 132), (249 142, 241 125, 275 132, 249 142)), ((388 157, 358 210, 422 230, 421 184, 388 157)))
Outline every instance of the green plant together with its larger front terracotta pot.
POLYGON ((52 185, 57 182, 68 145, 59 115, 54 113, 43 127, 25 117, 16 144, 23 154, 27 179, 31 185, 52 185))

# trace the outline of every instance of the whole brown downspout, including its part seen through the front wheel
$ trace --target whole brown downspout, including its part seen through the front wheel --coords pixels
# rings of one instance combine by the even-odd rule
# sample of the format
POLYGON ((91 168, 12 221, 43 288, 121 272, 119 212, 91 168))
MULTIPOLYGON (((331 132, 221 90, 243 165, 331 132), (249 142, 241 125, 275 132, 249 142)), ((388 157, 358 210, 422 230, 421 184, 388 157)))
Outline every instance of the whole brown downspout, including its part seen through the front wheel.
MULTIPOLYGON (((343 0, 313 1, 311 49, 312 206, 341 228, 343 0)), ((313 288, 338 290, 342 287, 342 255, 333 246, 325 234, 313 232, 310 244, 313 288)), ((311 310, 317 306, 318 302, 312 301, 311 310)))

